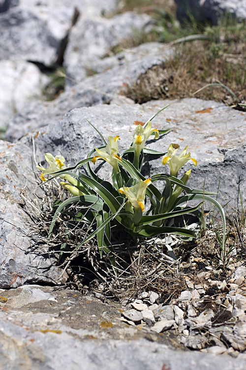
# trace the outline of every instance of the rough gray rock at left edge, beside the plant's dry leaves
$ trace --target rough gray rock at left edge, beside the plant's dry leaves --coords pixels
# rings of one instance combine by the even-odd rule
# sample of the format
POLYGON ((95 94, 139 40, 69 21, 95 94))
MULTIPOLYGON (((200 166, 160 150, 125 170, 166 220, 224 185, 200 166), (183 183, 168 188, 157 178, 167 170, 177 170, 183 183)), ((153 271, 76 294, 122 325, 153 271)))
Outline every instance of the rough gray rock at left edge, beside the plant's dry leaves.
POLYGON ((30 235, 32 221, 23 209, 21 194, 31 197, 36 186, 32 159, 25 145, 0 142, 0 288, 28 282, 59 284, 67 279, 66 274, 60 276, 56 259, 48 256, 43 245, 41 251, 30 235))

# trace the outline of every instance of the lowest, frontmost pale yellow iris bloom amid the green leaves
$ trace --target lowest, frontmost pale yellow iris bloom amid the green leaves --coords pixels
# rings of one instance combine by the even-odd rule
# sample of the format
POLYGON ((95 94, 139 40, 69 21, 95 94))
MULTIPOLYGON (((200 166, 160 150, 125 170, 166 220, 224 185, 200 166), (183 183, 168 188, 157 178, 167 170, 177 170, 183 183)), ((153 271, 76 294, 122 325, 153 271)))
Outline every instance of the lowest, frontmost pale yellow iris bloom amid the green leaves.
POLYGON ((135 210, 141 209, 144 212, 145 206, 145 193, 147 186, 151 184, 151 179, 145 181, 141 180, 139 184, 127 187, 123 186, 119 189, 120 193, 126 195, 128 201, 134 207, 135 210))

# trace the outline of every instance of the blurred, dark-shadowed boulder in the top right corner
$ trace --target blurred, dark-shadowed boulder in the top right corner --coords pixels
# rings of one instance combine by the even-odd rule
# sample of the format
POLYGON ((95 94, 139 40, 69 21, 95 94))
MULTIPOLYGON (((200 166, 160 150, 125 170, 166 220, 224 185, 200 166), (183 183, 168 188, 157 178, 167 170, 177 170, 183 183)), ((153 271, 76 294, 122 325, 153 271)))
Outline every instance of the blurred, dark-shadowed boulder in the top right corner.
POLYGON ((180 22, 192 18, 197 22, 210 21, 219 23, 223 16, 231 16, 237 20, 246 19, 246 0, 175 0, 177 18, 180 22))

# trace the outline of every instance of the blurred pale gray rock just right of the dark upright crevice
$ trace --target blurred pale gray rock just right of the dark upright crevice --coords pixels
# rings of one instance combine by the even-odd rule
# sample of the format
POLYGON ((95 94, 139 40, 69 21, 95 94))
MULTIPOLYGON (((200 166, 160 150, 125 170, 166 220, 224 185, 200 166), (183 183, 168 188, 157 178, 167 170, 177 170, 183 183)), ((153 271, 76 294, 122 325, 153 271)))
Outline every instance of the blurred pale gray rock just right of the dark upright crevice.
POLYGON ((147 14, 126 12, 110 19, 88 16, 82 13, 73 27, 64 55, 64 66, 69 76, 67 84, 82 81, 89 73, 96 72, 96 61, 104 58, 110 50, 126 43, 134 33, 143 33, 151 23, 147 14))

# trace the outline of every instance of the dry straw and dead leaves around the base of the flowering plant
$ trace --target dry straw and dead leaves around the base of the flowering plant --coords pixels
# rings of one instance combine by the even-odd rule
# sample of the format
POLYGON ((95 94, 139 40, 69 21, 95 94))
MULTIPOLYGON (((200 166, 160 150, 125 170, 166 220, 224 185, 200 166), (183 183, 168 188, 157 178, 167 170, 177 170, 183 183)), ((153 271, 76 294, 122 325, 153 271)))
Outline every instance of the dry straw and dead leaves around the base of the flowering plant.
MULTIPOLYGON (((33 250, 37 254, 55 257, 55 263, 69 276, 67 284, 83 294, 128 302, 144 291, 154 291, 160 296, 159 303, 169 304, 187 289, 187 278, 193 285, 199 284, 199 276, 204 272, 206 276, 209 273, 212 280, 229 281, 235 268, 245 261, 246 234, 243 217, 237 218, 237 223, 235 219, 229 221, 231 224, 228 224, 227 230, 227 251, 232 246, 233 248, 228 253, 226 268, 219 257, 220 248, 213 228, 205 229, 192 242, 173 238, 175 244, 172 248, 177 259, 166 249, 164 239, 158 239, 160 244, 157 238, 142 238, 137 243, 124 240, 120 244, 119 240, 123 240, 123 235, 119 236, 117 233, 118 239, 113 239, 116 274, 107 256, 104 254, 100 258, 95 239, 76 249, 92 230, 76 220, 80 207, 67 208, 60 214, 48 241, 49 227, 54 215, 54 200, 64 200, 67 196, 58 182, 48 184, 42 187, 42 196, 37 196, 35 200, 26 198, 25 210, 31 219, 29 236, 32 238, 33 250)), ((206 294, 216 296, 218 292, 208 284, 206 294)))

